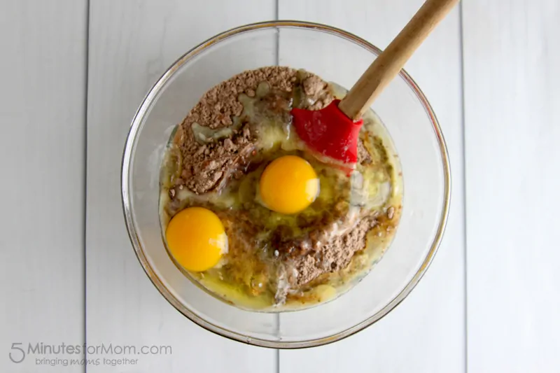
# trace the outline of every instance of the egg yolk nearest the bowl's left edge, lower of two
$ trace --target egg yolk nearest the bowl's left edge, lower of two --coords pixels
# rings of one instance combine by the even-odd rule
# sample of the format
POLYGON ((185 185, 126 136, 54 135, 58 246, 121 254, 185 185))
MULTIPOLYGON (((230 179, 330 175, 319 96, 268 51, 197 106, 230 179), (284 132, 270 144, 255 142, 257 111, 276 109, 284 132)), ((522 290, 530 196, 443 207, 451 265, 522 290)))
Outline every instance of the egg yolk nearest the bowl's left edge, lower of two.
POLYGON ((228 236, 220 218, 202 207, 177 213, 167 225, 165 237, 173 258, 188 271, 206 271, 228 251, 228 236))

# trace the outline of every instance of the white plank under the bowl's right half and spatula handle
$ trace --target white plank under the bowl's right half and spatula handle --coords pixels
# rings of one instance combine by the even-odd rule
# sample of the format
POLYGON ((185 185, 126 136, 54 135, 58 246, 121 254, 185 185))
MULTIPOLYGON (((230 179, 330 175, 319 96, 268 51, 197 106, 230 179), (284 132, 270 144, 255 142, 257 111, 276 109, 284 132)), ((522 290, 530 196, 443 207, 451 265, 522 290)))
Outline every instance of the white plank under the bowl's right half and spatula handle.
MULTIPOLYGON (((279 18, 331 24, 384 48, 422 2, 280 0, 279 18)), ((309 350, 281 351, 280 372, 465 371, 459 31, 457 8, 437 27, 405 67, 433 105, 451 157, 451 211, 440 251, 416 289, 391 314, 342 342, 309 350)))

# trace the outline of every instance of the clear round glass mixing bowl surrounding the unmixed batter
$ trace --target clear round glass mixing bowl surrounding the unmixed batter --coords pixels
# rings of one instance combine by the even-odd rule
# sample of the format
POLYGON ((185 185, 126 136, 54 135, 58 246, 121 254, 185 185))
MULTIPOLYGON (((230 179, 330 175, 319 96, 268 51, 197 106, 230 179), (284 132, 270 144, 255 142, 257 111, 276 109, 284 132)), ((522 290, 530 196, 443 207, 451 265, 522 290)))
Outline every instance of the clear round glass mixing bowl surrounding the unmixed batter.
POLYGON ((400 225, 381 261, 344 295, 302 311, 244 311, 184 276, 167 255, 160 231, 162 155, 172 130, 204 92, 241 71, 275 64, 306 69, 349 88, 380 52, 357 36, 323 24, 248 24, 187 52, 148 92, 125 145, 123 209, 140 264, 183 315, 211 332, 248 344, 279 349, 319 346, 372 325, 416 286, 442 239, 450 176, 435 114, 405 71, 372 106, 391 134, 402 165, 400 225))

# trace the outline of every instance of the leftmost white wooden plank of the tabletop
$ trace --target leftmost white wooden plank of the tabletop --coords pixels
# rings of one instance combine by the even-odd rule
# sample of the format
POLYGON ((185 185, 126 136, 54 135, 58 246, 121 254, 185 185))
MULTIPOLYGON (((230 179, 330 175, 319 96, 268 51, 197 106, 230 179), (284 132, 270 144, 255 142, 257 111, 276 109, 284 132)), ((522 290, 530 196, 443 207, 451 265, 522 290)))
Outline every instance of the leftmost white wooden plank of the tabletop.
POLYGON ((0 372, 82 372, 8 353, 84 341, 86 1, 0 8, 0 372))

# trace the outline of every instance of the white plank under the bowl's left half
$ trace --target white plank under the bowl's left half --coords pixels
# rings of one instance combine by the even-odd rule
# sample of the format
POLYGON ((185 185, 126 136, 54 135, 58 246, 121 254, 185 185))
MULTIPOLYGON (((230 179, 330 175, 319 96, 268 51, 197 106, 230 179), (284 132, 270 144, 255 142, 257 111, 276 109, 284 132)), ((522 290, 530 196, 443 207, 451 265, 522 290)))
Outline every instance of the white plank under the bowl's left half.
POLYGON ((172 356, 88 372, 273 372, 276 351, 203 330, 152 286, 123 222, 120 162, 134 112, 165 69, 219 31, 273 18, 274 2, 97 0, 90 6, 87 342, 172 346, 172 356))

